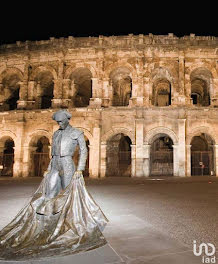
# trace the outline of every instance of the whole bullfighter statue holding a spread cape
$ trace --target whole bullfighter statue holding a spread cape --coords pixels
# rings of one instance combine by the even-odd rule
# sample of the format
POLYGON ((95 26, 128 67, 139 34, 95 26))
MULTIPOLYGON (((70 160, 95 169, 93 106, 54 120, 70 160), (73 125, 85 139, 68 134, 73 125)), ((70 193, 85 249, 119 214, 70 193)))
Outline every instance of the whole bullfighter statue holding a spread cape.
POLYGON ((0 260, 73 254, 105 245, 108 219, 87 191, 82 171, 87 148, 83 132, 69 124, 66 110, 54 113, 60 128, 52 139, 52 159, 31 201, 0 231, 0 260), (76 146, 80 158, 75 170, 76 146))

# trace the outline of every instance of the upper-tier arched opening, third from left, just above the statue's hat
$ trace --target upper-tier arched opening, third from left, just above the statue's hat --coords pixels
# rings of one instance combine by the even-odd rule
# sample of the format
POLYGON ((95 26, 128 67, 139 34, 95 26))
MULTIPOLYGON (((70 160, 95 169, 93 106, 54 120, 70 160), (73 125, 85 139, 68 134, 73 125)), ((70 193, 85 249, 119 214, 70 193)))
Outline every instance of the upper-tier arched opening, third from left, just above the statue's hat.
MULTIPOLYGON (((75 107, 86 107, 92 97, 92 73, 87 68, 76 69, 70 79, 73 82, 71 100, 75 107)), ((72 87, 72 85, 71 85, 72 87)))

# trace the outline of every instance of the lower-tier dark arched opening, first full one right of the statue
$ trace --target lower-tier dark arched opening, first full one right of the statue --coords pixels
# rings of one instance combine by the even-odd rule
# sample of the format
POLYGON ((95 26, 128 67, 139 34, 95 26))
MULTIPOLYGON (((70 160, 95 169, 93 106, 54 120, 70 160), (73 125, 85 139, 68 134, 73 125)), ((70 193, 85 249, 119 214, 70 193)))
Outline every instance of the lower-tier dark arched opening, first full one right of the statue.
POLYGON ((107 142, 106 176, 131 176, 131 139, 123 133, 107 142))

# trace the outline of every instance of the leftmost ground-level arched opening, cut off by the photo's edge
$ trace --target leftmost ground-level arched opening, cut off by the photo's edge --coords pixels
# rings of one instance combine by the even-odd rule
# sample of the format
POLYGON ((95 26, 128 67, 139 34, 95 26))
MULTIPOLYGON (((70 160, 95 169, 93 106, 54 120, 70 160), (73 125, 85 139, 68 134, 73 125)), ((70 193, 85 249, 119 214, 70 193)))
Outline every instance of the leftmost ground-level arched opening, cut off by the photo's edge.
POLYGON ((14 141, 12 138, 2 138, 0 140, 1 153, 0 153, 0 165, 1 176, 13 177, 13 165, 14 165, 14 141))

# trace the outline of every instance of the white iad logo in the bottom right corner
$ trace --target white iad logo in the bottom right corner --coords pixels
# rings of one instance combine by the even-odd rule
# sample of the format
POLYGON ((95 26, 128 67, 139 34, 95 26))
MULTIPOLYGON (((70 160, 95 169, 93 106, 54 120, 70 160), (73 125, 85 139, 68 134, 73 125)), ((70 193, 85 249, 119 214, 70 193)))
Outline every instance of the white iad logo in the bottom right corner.
POLYGON ((216 249, 212 243, 201 243, 199 246, 199 250, 197 251, 196 240, 193 241, 193 253, 195 254, 195 256, 201 256, 203 253, 203 249, 206 256, 202 256, 202 263, 216 263, 216 257, 214 255, 216 249), (210 252, 209 248, 211 248, 210 252))

